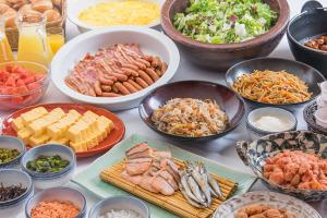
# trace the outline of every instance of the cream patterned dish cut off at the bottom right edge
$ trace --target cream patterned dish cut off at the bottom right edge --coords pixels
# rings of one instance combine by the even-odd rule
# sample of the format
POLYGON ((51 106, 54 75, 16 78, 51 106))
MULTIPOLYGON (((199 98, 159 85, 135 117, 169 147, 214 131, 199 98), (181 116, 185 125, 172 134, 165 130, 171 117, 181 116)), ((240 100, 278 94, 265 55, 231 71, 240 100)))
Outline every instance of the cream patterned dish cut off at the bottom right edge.
POLYGON ((312 206, 295 197, 264 191, 247 192, 228 199, 217 208, 214 218, 234 218, 240 208, 252 204, 266 204, 279 209, 287 209, 295 213, 298 218, 322 218, 312 206))

